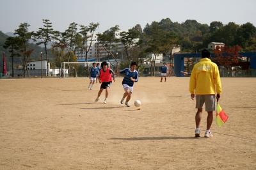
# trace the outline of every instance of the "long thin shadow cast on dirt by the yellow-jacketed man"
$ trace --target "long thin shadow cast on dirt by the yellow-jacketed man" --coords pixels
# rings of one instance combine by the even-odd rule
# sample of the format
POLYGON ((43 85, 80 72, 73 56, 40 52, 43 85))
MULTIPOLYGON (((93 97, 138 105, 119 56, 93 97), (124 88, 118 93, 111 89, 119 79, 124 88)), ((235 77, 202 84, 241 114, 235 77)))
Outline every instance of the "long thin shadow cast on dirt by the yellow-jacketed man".
POLYGON ((175 140, 175 139, 206 139, 205 137, 183 137, 183 136, 159 136, 159 137, 128 137, 128 138, 120 138, 113 137, 108 140, 123 140, 123 141, 156 141, 156 140, 175 140))

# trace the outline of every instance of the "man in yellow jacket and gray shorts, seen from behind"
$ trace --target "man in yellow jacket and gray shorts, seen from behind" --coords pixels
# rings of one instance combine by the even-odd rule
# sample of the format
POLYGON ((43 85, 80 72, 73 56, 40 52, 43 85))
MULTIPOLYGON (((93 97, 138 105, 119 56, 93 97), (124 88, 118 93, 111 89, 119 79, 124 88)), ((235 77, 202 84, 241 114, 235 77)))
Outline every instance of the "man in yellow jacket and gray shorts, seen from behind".
POLYGON ((195 137, 200 137, 200 121, 202 118, 202 107, 205 103, 205 111, 208 112, 207 128, 204 137, 212 137, 210 128, 213 120, 213 111, 216 109, 215 94, 217 102, 221 93, 220 73, 216 63, 210 59, 210 52, 202 50, 202 59, 193 67, 189 80, 189 91, 191 99, 196 98, 196 129, 195 137))

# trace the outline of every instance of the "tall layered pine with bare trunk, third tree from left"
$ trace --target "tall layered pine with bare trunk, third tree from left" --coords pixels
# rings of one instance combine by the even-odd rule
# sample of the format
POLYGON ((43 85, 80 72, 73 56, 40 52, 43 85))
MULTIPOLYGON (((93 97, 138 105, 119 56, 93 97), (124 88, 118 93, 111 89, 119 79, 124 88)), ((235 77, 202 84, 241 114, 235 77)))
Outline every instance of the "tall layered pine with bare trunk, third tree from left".
POLYGON ((36 42, 36 45, 44 44, 44 50, 45 50, 45 56, 47 61, 47 76, 48 76, 48 52, 47 52, 47 45, 49 42, 52 41, 53 36, 53 29, 52 29, 52 23, 48 19, 43 19, 44 27, 40 27, 39 30, 35 33, 34 37, 36 40, 39 40, 39 42, 36 42))

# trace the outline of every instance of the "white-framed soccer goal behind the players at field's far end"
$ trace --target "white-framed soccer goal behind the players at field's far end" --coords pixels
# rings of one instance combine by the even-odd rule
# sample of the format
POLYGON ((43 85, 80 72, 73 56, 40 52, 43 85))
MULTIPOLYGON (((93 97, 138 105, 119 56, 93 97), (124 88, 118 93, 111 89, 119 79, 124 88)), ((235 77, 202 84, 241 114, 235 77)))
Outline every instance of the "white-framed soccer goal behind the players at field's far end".
MULTIPOLYGON (((90 75, 90 69, 93 67, 93 63, 102 62, 97 61, 81 61, 81 62, 62 62, 61 63, 61 77, 88 77, 90 75)), ((108 62, 108 65, 111 67, 111 63, 108 62)))

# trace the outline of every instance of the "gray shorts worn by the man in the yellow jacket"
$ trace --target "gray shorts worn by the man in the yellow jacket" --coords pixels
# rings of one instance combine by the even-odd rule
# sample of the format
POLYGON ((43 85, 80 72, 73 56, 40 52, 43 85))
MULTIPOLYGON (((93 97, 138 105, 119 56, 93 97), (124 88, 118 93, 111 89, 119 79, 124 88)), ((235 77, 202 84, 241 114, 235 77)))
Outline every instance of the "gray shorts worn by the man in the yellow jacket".
POLYGON ((215 111, 215 95, 196 95, 196 109, 202 108, 205 103, 205 111, 215 111))

